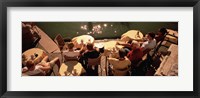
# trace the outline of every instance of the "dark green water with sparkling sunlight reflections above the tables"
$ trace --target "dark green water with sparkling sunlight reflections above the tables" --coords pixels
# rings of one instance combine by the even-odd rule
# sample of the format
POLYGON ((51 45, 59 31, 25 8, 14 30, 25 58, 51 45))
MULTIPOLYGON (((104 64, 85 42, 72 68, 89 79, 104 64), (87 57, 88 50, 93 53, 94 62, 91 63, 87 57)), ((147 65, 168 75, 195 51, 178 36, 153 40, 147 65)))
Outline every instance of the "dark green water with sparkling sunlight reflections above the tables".
POLYGON ((90 34, 96 39, 101 38, 119 38, 128 30, 140 30, 143 34, 148 32, 157 33, 159 28, 165 27, 178 31, 178 22, 37 22, 40 27, 52 39, 57 34, 61 34, 65 39, 88 34, 92 27, 100 26, 100 33, 90 34), (83 27, 86 26, 87 29, 83 27))

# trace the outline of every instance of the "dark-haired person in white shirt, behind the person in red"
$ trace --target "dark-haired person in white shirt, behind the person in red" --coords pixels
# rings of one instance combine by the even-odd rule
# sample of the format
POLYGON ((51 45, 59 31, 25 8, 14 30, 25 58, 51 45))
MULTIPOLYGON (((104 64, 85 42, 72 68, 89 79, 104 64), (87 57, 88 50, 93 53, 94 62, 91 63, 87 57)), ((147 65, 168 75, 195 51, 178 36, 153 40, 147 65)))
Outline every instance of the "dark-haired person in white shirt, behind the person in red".
POLYGON ((150 32, 147 34, 147 41, 143 42, 141 46, 143 54, 148 53, 155 46, 156 46, 155 34, 153 32, 150 32))

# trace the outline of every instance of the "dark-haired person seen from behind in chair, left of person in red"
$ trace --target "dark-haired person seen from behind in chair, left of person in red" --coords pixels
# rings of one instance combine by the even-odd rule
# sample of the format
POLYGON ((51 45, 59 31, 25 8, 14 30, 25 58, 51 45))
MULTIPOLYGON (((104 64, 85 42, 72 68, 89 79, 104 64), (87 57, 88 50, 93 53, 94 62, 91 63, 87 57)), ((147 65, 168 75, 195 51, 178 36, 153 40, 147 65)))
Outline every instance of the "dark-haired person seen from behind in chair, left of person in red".
POLYGON ((126 57, 123 49, 119 50, 119 58, 108 58, 108 62, 113 66, 112 73, 115 76, 128 75, 131 61, 126 57))

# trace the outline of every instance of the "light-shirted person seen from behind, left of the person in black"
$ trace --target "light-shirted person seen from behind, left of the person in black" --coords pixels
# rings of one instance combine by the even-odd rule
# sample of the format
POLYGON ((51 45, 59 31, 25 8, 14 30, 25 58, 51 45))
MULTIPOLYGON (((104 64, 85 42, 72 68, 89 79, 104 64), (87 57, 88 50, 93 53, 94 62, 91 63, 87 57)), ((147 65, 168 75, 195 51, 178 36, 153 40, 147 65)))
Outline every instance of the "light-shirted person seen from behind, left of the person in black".
POLYGON ((68 47, 68 49, 66 51, 64 51, 65 60, 67 60, 67 58, 77 59, 78 56, 80 55, 80 52, 78 50, 74 49, 74 44, 72 42, 69 42, 67 44, 67 47, 68 47))

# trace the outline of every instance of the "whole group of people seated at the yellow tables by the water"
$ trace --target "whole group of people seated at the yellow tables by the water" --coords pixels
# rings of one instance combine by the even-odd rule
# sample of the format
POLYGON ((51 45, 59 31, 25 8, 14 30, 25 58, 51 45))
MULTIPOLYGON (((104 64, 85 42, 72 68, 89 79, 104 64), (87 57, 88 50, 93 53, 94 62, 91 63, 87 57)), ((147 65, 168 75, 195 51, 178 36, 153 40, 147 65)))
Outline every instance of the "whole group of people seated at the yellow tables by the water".
MULTIPOLYGON (((117 42, 116 45, 122 45, 123 48, 117 50, 119 57, 108 56, 107 58, 110 75, 130 75, 129 72, 138 66, 144 54, 155 48, 157 42, 162 41, 166 33, 166 28, 161 28, 157 34, 153 32, 147 33, 143 41, 129 40, 125 43, 117 42)), ((79 46, 81 48, 77 49, 73 42, 67 43, 66 51, 63 52, 65 61, 73 58, 73 60, 81 63, 82 67, 86 70, 86 75, 98 76, 99 63, 96 63, 95 66, 89 66, 88 61, 89 59, 99 58, 103 52, 99 48, 94 47, 94 43, 91 42, 87 44, 81 43, 79 46)), ((28 60, 22 68, 22 73, 26 73, 27 75, 47 75, 55 63, 60 65, 58 57, 48 62, 48 56, 46 56, 38 64, 35 64, 32 60, 28 60)))

